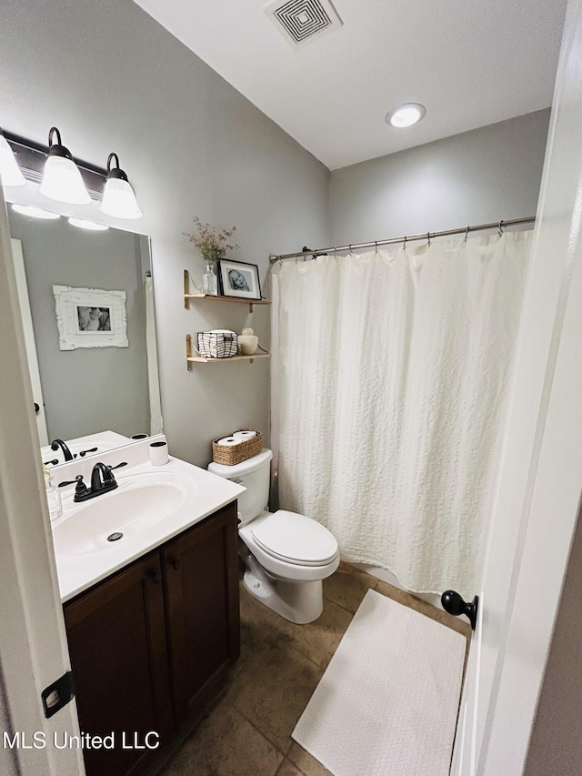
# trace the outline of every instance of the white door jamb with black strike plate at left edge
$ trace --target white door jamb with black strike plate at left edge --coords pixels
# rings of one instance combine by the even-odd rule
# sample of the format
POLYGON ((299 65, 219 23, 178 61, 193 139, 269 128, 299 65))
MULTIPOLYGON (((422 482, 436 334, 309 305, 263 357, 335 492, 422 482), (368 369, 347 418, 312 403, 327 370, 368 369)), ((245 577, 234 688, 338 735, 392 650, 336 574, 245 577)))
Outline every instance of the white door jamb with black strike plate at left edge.
POLYGON ((0 718, 5 732, 37 733, 46 741, 37 749, 3 747, 0 772, 80 776, 80 751, 48 745, 57 733, 78 735, 75 700, 50 718, 41 702, 41 691, 70 670, 70 662, 1 186, 0 331, 0 718))

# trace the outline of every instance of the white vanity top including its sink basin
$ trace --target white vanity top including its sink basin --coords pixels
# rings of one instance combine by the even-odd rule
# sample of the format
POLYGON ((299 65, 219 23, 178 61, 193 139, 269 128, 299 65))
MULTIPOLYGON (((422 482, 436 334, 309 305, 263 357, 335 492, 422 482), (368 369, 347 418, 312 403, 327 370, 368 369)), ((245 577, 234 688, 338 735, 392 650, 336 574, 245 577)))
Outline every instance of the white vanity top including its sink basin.
MULTIPOLYGON (((144 439, 128 445, 123 453, 115 450, 103 457, 97 454, 105 466, 118 467, 120 458, 125 459, 125 467, 114 470, 118 485, 115 490, 75 503, 75 484, 61 489, 63 516, 51 524, 51 531, 63 603, 245 492, 235 482, 173 456, 165 466, 152 466, 150 443, 151 439, 144 439)), ((83 458, 65 464, 55 472, 55 484, 83 474, 90 485, 94 461, 83 458)))

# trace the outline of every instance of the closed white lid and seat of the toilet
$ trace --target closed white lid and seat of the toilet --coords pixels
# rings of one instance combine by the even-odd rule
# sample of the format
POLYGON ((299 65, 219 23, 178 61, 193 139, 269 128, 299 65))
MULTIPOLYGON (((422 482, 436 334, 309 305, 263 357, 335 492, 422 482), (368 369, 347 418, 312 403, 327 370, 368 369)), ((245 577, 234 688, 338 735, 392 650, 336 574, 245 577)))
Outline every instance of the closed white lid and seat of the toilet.
POLYGON ((325 566, 337 555, 333 534, 316 520, 279 509, 250 526, 258 547, 273 558, 298 566, 325 566))

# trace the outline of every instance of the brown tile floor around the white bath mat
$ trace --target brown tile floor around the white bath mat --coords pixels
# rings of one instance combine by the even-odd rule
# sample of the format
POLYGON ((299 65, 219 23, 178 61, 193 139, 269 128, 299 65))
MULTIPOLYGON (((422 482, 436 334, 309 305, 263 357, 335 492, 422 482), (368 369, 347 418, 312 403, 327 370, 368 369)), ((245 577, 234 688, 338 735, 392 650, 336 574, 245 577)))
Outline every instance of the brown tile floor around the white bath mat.
POLYGON ((470 637, 468 623, 343 563, 324 580, 324 613, 309 625, 283 620, 241 582, 240 659, 213 706, 150 776, 328 774, 291 732, 370 588, 470 637))

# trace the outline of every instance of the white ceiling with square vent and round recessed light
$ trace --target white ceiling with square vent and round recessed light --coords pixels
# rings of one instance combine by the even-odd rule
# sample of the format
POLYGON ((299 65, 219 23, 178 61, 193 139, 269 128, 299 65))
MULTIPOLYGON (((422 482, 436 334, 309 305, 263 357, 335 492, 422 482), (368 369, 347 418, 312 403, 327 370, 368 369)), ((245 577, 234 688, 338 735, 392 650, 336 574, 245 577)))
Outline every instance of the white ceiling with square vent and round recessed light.
POLYGON ((330 169, 549 106, 567 5, 335 0, 344 25, 294 50, 270 0, 135 2, 330 169), (424 120, 387 126, 405 102, 424 120))

